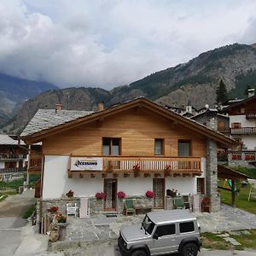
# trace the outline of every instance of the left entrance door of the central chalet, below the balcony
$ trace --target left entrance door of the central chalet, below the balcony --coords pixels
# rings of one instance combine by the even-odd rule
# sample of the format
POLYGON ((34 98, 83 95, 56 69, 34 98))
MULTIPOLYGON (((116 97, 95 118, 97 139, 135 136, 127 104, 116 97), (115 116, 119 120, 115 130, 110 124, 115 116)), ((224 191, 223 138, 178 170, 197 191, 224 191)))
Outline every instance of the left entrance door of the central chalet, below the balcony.
POLYGON ((104 179, 104 192, 106 193, 106 199, 104 201, 105 211, 116 211, 116 191, 117 179, 105 178, 104 179))

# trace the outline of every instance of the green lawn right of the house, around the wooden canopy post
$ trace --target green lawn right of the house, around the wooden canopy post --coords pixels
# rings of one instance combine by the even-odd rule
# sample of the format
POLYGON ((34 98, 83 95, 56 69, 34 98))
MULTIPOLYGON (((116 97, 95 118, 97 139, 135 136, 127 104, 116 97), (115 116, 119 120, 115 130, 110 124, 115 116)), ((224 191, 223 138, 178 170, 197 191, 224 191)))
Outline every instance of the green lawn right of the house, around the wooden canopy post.
MULTIPOLYGON (((241 208, 247 212, 256 214, 256 199, 248 201, 249 191, 251 186, 247 184, 244 188, 239 188, 240 191, 236 196, 236 207, 241 208)), ((219 189, 221 201, 225 204, 231 205, 231 192, 224 189, 219 189)))

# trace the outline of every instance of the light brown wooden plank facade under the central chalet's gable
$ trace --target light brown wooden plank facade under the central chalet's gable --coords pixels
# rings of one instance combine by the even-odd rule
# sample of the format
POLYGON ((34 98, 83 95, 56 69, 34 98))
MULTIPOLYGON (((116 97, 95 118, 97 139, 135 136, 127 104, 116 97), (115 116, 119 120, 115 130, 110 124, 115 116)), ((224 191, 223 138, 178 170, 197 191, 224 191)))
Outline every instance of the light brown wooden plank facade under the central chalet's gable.
POLYGON ((191 141, 191 156, 205 156, 205 139, 182 125, 160 119, 143 109, 134 113, 126 111, 100 124, 95 121, 71 131, 61 132, 58 137, 43 141, 43 154, 50 155, 102 155, 102 137, 121 139, 122 156, 154 156, 154 139, 164 140, 166 157, 177 157, 178 140, 191 141))

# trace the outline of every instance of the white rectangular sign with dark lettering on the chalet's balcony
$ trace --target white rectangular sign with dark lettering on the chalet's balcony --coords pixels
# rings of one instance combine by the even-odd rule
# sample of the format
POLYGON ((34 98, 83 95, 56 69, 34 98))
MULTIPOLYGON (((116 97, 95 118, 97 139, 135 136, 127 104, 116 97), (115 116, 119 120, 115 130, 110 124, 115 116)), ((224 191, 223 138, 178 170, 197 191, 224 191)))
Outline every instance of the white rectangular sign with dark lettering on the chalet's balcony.
POLYGON ((72 157, 71 171, 102 171, 102 157, 72 157))

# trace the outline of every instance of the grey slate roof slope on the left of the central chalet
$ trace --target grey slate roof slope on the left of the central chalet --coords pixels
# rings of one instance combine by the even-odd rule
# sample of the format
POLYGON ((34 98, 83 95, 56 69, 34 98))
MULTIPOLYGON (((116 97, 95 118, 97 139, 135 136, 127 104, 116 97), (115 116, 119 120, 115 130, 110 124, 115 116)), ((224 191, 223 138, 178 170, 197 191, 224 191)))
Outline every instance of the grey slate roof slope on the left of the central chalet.
POLYGON ((57 125, 79 119, 90 113, 94 112, 79 110, 58 110, 56 112, 55 109, 38 109, 38 112, 34 115, 28 125, 26 125, 25 129, 20 134, 20 137, 47 130, 57 125))

